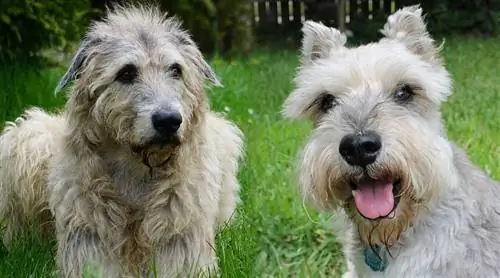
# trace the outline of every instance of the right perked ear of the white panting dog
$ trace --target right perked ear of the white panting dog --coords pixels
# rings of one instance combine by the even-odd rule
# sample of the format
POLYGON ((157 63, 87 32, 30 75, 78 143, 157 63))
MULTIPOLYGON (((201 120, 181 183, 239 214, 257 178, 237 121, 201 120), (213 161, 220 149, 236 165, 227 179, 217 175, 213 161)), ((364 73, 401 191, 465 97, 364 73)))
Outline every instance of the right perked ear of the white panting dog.
POLYGON ((387 18, 381 33, 388 39, 405 44, 411 52, 425 60, 435 61, 440 48, 434 46, 424 17, 420 5, 404 7, 387 18))

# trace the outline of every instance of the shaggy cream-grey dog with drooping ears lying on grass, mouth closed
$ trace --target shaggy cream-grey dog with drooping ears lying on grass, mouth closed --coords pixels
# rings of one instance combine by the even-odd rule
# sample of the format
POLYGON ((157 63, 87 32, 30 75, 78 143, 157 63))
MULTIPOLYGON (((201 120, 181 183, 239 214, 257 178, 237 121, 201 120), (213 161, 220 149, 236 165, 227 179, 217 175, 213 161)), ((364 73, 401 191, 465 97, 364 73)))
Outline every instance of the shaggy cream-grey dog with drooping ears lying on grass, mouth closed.
POLYGON ((63 111, 29 109, 0 137, 6 245, 38 221, 61 277, 216 274, 244 137, 210 109, 206 80, 221 86, 178 19, 108 9, 56 88, 72 84, 63 111))

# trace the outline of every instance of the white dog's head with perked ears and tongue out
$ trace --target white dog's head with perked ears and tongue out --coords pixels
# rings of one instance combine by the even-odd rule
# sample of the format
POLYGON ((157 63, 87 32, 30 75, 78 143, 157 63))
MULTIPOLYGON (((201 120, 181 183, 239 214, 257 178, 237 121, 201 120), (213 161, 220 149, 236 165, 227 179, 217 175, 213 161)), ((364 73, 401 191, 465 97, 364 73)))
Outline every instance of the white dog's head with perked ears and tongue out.
POLYGON ((382 33, 348 48, 338 30, 306 22, 284 115, 315 125, 300 166, 304 196, 344 207, 364 240, 390 243, 454 184, 439 112, 451 80, 418 6, 389 16, 382 33))

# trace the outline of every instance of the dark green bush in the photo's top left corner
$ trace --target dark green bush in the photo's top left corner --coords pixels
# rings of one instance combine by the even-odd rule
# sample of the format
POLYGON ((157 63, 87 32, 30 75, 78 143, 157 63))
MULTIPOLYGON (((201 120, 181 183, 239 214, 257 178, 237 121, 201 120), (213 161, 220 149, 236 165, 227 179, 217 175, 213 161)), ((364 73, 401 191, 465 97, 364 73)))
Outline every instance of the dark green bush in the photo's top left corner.
POLYGON ((0 59, 67 48, 87 26, 88 0, 6 0, 0 9, 0 59))

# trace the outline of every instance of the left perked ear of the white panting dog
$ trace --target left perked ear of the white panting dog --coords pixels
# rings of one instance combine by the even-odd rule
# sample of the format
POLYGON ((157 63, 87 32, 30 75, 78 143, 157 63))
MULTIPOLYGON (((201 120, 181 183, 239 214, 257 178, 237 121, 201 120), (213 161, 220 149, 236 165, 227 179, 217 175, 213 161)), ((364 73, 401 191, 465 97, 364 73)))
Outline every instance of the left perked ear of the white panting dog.
POLYGON ((302 26, 302 64, 328 57, 332 51, 344 48, 347 37, 339 30, 307 20, 302 26))

